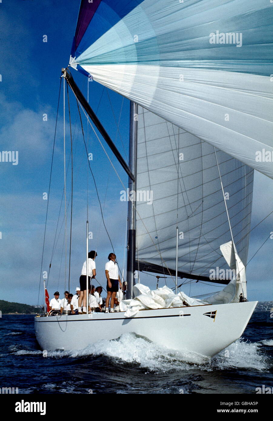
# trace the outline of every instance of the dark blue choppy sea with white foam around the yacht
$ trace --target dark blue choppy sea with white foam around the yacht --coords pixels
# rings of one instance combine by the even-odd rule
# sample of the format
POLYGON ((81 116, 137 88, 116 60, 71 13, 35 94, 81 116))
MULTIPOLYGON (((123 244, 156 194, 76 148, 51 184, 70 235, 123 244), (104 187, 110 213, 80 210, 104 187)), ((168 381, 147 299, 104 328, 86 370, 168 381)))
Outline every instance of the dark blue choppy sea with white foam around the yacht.
POLYGON ((29 394, 255 394, 273 386, 272 328, 270 312, 254 312, 244 335, 209 361, 134 333, 44 357, 34 316, 3 314, 0 387, 29 394))

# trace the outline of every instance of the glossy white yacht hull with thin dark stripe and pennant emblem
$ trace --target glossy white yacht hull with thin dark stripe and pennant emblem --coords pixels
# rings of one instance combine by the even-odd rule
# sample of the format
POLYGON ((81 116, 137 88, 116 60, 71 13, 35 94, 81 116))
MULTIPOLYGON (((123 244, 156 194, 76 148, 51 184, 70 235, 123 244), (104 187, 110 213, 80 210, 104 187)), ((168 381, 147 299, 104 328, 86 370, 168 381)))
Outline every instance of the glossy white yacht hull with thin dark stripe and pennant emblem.
POLYGON ((42 349, 84 349, 102 339, 134 332, 169 349, 206 357, 240 338, 257 301, 141 310, 132 318, 124 312, 35 317, 35 332, 42 349), (215 318, 204 313, 215 312, 215 318))

